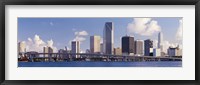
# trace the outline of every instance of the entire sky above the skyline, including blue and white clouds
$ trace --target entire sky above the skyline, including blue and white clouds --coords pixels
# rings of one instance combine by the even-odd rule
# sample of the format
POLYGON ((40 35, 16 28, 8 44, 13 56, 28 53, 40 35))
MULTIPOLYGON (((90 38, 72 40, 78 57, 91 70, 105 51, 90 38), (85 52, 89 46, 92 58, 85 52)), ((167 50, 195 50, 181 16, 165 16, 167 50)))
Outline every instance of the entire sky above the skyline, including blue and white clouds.
MULTIPOLYGON (((114 47, 121 47, 121 37, 134 36, 135 39, 152 39, 157 46, 158 33, 163 33, 163 44, 182 46, 182 18, 18 18, 18 42, 26 43, 27 51, 42 52, 50 46, 56 52, 66 46, 71 49, 71 41, 81 42, 81 51, 89 49, 89 38, 99 35, 103 38, 105 22, 114 23, 114 47)), ((103 39, 101 39, 102 42, 103 39)))

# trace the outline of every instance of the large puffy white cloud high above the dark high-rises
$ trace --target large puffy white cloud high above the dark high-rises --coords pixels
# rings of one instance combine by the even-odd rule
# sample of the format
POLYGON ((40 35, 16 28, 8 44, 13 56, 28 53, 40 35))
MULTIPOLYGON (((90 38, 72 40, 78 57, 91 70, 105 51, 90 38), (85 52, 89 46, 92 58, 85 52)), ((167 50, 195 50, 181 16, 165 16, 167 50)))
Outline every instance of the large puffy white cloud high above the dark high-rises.
POLYGON ((151 18, 133 18, 133 22, 127 26, 128 33, 136 33, 142 36, 151 36, 159 31, 161 27, 158 22, 151 18))

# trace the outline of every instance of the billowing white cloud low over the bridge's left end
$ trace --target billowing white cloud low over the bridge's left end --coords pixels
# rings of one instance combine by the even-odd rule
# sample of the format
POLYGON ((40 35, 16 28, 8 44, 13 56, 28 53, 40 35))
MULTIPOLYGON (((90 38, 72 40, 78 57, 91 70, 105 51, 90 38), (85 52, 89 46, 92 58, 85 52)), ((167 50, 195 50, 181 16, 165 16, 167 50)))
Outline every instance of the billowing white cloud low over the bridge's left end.
POLYGON ((47 41, 45 43, 39 35, 35 35, 34 39, 28 38, 26 42, 26 50, 27 51, 37 51, 37 52, 43 52, 43 47, 49 46, 53 48, 54 52, 57 52, 57 48, 53 46, 53 40, 47 41))

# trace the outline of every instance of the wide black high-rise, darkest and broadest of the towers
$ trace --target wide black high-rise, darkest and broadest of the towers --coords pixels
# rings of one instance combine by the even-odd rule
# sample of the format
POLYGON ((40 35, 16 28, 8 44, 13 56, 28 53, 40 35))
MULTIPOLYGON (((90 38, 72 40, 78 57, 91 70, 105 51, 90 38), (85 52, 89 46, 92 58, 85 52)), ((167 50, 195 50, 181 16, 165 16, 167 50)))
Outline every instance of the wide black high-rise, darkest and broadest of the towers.
POLYGON ((134 37, 122 37, 122 53, 124 55, 134 54, 134 37))

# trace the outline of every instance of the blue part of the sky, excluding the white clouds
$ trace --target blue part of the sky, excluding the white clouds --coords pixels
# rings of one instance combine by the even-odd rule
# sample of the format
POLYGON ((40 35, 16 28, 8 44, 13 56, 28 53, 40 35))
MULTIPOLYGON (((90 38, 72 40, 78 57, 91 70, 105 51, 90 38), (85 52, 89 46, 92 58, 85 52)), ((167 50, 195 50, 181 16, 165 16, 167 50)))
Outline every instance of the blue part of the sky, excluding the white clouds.
MULTIPOLYGON (((182 18, 151 18, 147 20, 148 24, 152 21, 157 23, 159 30, 164 35, 164 40, 170 43, 177 43, 176 34, 180 27, 180 20, 182 18)), ((70 46, 70 41, 76 35, 75 32, 87 32, 87 35, 82 36, 85 40, 81 42, 81 50, 89 49, 89 36, 100 35, 103 37, 103 29, 105 22, 114 23, 114 47, 121 47, 120 38, 126 34, 134 36, 135 39, 154 39, 157 40, 158 29, 151 30, 149 35, 143 35, 147 32, 136 33, 127 30, 128 24, 134 24, 130 29, 134 29, 135 24, 141 23, 144 20, 136 20, 134 18, 18 18, 18 41, 28 41, 28 38, 34 40, 35 35, 47 42, 52 39, 53 46, 57 49, 70 46), (153 33, 152 33, 153 32, 153 33)), ((154 27, 154 25, 152 25, 154 27)), ((140 28, 140 24, 137 25, 140 28)), ((151 29, 151 27, 149 27, 151 29)), ((31 49, 31 48, 30 48, 31 49)))

